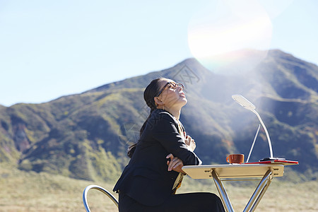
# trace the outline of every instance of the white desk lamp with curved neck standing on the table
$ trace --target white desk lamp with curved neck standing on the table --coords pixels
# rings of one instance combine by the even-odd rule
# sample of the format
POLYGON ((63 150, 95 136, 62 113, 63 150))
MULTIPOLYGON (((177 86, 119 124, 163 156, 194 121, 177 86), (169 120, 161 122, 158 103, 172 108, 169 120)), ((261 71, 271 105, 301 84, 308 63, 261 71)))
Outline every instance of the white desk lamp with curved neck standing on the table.
MULTIPOLYGON (((269 138, 269 132, 267 131, 264 122, 261 120, 261 117, 259 116, 259 113, 255 110, 255 108, 256 108, 255 105, 253 105, 252 102, 249 102, 249 100, 247 100, 242 95, 232 95, 232 99, 235 100, 237 103, 239 103, 245 109, 254 112, 254 114, 257 115, 257 118, 259 118, 259 122, 261 122, 261 126, 263 126, 263 129, 264 129, 264 131, 266 133, 267 141, 269 141, 269 152, 270 152, 271 156, 269 158, 263 158, 260 161, 265 161, 265 160, 285 160, 285 158, 273 158, 273 150, 271 148, 271 139, 269 138)), ((258 132, 258 130, 257 130, 257 132, 258 132)), ((253 142, 252 148, 253 148, 253 146, 254 146, 254 142, 253 142)), ((251 151, 252 151, 252 149, 251 149, 251 151)), ((251 151, 249 151, 249 152, 251 152, 251 151)))

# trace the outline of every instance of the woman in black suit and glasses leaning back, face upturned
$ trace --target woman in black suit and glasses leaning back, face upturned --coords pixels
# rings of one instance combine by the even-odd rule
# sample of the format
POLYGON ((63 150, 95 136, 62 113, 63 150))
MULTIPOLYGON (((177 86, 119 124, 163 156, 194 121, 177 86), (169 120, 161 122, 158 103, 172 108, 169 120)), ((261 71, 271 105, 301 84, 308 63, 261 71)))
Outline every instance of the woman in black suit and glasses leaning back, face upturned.
POLYGON ((211 193, 175 194, 183 165, 201 165, 193 152, 195 142, 179 122, 187 98, 180 83, 158 78, 143 93, 151 114, 141 127, 138 143, 129 148, 131 158, 114 187, 119 211, 224 211, 211 193))

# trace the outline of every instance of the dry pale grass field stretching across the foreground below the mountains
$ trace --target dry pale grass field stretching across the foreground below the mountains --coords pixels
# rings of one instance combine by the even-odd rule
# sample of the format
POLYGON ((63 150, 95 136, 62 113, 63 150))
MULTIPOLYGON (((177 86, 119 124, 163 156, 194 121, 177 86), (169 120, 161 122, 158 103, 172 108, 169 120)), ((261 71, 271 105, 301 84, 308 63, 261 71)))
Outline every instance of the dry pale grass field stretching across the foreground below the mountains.
MULTIPOLYGON (((23 172, 0 166, 0 211, 85 211, 83 189, 99 184, 112 190, 114 183, 89 182, 47 173, 23 172)), ((235 211, 242 211, 257 182, 232 184, 224 182, 235 211)), ((273 179, 256 211, 318 211, 317 182, 281 182, 273 179)), ((213 192, 213 181, 198 181, 185 177, 182 192, 213 192)), ((117 196, 114 194, 114 196, 117 196)), ((117 211, 112 201, 101 192, 88 193, 91 211, 117 211)))

